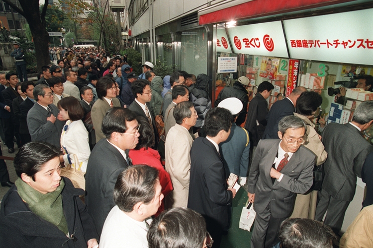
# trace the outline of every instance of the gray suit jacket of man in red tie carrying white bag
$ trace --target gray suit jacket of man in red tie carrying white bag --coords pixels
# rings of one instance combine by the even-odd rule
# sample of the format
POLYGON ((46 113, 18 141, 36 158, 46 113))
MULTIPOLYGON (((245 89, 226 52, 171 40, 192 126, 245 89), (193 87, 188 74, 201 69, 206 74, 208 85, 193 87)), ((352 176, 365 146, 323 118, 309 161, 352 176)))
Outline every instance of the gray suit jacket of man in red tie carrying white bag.
POLYGON ((255 193, 254 209, 260 214, 271 202, 274 218, 287 218, 293 208, 296 194, 307 192, 313 183, 315 155, 304 146, 291 156, 281 170, 282 180, 272 183, 270 176, 279 150, 279 139, 262 139, 258 143, 248 179, 248 191, 255 193))

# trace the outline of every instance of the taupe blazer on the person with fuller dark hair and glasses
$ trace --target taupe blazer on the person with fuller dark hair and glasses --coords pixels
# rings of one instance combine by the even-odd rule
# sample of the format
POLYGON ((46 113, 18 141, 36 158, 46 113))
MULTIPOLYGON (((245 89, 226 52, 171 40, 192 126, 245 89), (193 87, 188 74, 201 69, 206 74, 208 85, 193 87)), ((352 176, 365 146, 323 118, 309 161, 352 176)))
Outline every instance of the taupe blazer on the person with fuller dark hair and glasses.
MULTIPOLYGON (((112 98, 113 101, 113 107, 120 107, 120 102, 117 98, 112 98)), ((96 135, 96 142, 98 142, 100 139, 106 138, 105 135, 103 135, 101 126, 103 118, 106 115, 106 112, 110 109, 110 105, 106 102, 105 99, 101 100, 98 99, 94 102, 92 110, 91 110, 91 118, 92 123, 94 127, 94 132, 96 135)))

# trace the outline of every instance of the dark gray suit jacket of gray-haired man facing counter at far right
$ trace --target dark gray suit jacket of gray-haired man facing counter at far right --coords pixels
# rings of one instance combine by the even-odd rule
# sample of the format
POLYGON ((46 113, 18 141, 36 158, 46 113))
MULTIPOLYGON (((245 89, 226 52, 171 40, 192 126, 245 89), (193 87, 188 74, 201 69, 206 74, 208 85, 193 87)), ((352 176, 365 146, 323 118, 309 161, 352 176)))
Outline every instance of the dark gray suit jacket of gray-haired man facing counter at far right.
POLYGON ((373 146, 349 123, 328 124, 322 141, 328 152, 322 188, 338 200, 351 201, 355 194, 356 177, 361 177, 364 161, 373 151, 373 146))

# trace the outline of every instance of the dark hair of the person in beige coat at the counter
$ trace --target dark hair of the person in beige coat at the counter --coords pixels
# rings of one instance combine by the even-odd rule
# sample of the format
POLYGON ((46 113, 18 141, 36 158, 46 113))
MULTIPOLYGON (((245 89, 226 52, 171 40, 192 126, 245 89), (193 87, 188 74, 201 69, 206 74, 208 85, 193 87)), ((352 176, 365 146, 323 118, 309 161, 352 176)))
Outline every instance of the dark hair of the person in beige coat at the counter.
POLYGON ((312 116, 322 103, 322 97, 314 91, 304 91, 296 100, 296 113, 303 116, 312 116))

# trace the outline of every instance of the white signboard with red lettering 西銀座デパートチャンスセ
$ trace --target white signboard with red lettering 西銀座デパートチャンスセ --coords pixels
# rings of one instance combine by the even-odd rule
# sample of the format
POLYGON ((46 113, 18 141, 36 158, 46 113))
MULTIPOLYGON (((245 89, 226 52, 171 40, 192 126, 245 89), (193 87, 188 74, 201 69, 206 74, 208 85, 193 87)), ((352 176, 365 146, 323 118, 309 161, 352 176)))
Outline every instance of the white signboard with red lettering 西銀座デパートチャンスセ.
POLYGON ((284 20, 290 57, 373 64, 373 9, 284 20))

